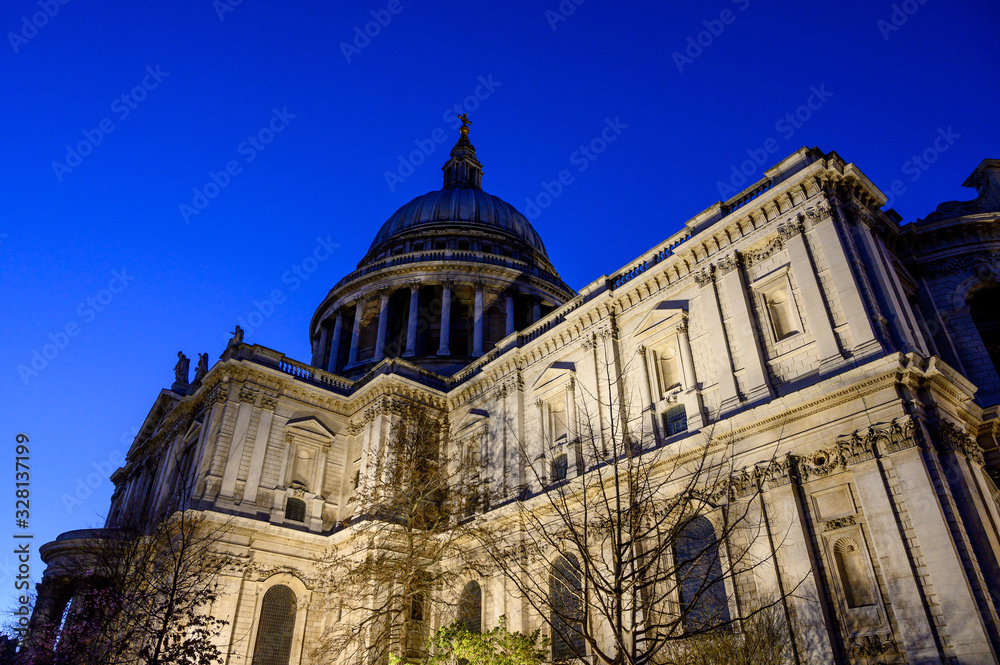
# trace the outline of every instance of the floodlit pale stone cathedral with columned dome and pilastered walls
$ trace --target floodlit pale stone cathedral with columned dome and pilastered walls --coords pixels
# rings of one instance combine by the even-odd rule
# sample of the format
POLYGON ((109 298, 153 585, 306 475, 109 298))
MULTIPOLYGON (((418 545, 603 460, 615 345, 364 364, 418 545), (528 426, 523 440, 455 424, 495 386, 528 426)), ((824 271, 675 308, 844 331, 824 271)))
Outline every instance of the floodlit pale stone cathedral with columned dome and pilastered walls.
MULTIPOLYGON (((227 663, 314 662, 333 620, 315 553, 345 546, 394 404, 446 414, 491 488, 541 492, 511 441, 554 477, 585 472, 579 394, 603 389, 600 344, 635 360, 624 380, 656 446, 709 432, 740 473, 767 466, 754 477, 785 536, 756 584, 798 584, 788 602, 818 619, 797 662, 997 662, 1000 160, 965 182, 974 200, 903 224, 858 167, 803 148, 579 292, 483 191, 466 127, 443 171, 319 304, 310 362, 238 331, 160 393, 113 475, 109 522, 184 483, 232 520, 245 565, 213 608, 227 663), (281 630, 275 608, 294 617, 281 630)), ((59 616, 64 562, 96 535, 43 548, 38 612, 59 616)), ((499 577, 468 584, 484 627, 537 627, 499 577)))

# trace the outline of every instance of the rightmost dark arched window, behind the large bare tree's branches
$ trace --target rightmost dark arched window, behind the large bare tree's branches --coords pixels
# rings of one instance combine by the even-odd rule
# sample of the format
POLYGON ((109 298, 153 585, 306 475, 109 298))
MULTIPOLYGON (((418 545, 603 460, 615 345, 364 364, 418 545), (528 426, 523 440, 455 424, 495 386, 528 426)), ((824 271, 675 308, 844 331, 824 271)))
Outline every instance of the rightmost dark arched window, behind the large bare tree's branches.
POLYGON ((712 523, 701 515, 689 521, 677 535, 674 556, 684 629, 695 631, 728 622, 719 541, 712 523))

